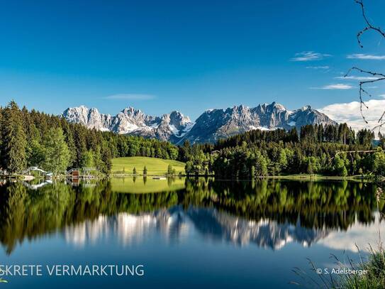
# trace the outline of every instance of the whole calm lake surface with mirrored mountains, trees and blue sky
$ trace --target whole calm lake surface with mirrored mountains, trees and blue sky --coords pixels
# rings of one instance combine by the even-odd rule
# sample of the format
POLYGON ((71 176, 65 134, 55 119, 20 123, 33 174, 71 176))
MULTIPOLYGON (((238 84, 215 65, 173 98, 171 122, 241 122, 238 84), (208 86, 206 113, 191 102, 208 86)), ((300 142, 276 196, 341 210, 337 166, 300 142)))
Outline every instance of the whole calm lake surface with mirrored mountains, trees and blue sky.
MULTIPOLYGON (((7 276, 4 288, 296 288, 385 236, 376 185, 113 178, 0 182, 0 264, 140 265, 144 276, 7 276)), ((0 286, 3 286, 0 283, 0 286)))

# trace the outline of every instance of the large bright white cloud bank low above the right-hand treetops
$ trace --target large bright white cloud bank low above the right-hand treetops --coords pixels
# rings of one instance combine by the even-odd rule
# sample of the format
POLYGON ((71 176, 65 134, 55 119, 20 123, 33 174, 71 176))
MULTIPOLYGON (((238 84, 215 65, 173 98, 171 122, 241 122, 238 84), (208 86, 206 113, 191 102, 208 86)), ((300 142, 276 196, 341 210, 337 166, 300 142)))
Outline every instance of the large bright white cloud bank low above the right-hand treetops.
POLYGON ((346 122, 355 131, 359 129, 373 129, 374 126, 378 125, 378 120, 385 110, 385 99, 370 99, 364 103, 369 107, 367 109, 362 106, 362 114, 364 114, 368 124, 365 124, 364 119, 362 119, 359 111, 359 102, 330 104, 318 110, 338 123, 346 122))

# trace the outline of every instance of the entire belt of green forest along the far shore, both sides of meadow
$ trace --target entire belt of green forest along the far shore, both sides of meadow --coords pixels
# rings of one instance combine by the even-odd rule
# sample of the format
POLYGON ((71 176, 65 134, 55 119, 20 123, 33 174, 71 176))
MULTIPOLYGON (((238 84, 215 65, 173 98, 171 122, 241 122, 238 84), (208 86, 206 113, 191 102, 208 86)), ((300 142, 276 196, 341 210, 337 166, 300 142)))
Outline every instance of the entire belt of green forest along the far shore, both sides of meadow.
POLYGON ((355 133, 347 124, 308 125, 298 133, 253 130, 215 144, 166 141, 87 129, 59 116, 19 109, 16 102, 0 108, 0 169, 20 173, 38 166, 54 174, 68 168, 97 168, 108 174, 111 158, 147 156, 182 160, 187 175, 255 178, 298 173, 384 175, 384 137, 374 148, 374 133, 355 133))

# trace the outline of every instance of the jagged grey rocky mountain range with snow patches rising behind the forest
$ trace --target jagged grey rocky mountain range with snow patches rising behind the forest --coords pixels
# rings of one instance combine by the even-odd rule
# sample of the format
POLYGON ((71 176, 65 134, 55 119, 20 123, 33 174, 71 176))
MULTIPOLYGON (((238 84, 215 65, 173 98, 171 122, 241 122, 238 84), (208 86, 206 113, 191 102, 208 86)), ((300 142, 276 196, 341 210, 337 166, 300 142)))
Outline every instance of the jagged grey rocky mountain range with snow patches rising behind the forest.
POLYGON ((253 108, 240 105, 228 109, 208 109, 195 122, 179 111, 149 116, 133 107, 111 116, 101 114, 95 108, 80 106, 66 109, 61 116, 89 129, 157 138, 176 144, 187 140, 190 143, 214 143, 220 138, 228 138, 252 129, 299 130, 306 124, 336 124, 310 106, 291 111, 277 102, 260 104, 253 108))

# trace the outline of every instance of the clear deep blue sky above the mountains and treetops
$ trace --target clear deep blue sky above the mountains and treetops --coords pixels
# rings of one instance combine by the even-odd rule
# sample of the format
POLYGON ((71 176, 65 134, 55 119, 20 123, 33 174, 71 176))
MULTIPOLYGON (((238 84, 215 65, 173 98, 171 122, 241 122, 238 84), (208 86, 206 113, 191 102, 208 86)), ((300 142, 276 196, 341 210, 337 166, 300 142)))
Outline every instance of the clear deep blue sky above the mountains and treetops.
MULTIPOLYGON (((385 27, 385 2, 366 6, 385 27)), ((384 40, 367 33, 357 45, 363 27, 353 0, 1 1, 0 104, 195 119, 235 104, 348 103, 357 80, 336 77, 352 65, 385 71, 384 40)))

